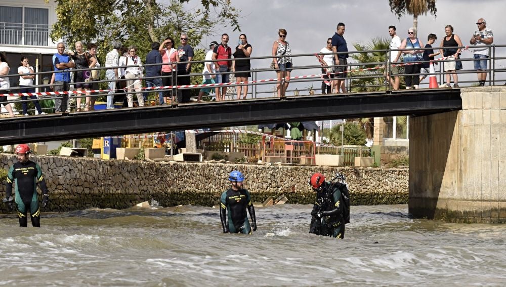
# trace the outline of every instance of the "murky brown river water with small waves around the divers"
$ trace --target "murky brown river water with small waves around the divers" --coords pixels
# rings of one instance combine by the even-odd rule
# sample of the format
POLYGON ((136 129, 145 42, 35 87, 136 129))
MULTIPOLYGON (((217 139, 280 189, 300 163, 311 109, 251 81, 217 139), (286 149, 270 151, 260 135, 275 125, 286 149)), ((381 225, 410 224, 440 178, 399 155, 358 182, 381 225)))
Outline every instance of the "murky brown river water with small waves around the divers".
POLYGON ((407 205, 355 206, 345 239, 308 234, 311 206, 257 208, 252 236, 219 210, 152 207, 0 218, 7 286, 505 285, 505 225, 412 219, 407 205), (30 225, 30 223, 29 223, 30 225))

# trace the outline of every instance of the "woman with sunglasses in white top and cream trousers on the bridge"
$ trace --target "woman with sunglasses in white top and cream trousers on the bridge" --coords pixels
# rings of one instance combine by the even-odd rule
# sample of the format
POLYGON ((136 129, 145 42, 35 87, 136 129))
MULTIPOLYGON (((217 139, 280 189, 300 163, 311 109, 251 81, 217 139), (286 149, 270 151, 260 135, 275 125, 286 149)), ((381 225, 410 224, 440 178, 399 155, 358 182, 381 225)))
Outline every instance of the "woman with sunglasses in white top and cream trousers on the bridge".
POLYGON ((126 89, 128 94, 126 94, 126 101, 128 101, 128 107, 134 107, 134 90, 137 92, 137 101, 140 107, 144 106, 144 96, 141 93, 141 78, 142 78, 142 62, 141 58, 137 56, 137 48, 135 46, 131 46, 128 49, 128 56, 126 57, 125 66, 125 79, 126 79, 126 89), (135 66, 135 67, 128 67, 135 66))

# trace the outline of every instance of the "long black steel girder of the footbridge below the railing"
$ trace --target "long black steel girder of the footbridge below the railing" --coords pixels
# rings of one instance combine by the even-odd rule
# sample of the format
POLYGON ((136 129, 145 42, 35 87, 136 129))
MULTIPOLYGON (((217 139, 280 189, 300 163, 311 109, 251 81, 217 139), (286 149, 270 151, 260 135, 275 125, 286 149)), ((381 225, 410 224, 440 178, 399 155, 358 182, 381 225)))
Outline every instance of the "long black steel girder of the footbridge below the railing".
POLYGON ((459 89, 369 92, 97 110, 0 120, 0 145, 335 118, 459 110, 459 89))

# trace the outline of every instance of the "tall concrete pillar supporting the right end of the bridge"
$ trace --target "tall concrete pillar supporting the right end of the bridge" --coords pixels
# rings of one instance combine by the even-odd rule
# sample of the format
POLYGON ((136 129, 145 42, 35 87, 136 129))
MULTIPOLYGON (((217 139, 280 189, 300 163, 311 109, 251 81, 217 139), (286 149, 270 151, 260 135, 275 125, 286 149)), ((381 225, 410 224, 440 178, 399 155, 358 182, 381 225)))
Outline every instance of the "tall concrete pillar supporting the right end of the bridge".
POLYGON ((409 212, 506 222, 506 89, 461 89, 462 110, 409 122, 409 212))

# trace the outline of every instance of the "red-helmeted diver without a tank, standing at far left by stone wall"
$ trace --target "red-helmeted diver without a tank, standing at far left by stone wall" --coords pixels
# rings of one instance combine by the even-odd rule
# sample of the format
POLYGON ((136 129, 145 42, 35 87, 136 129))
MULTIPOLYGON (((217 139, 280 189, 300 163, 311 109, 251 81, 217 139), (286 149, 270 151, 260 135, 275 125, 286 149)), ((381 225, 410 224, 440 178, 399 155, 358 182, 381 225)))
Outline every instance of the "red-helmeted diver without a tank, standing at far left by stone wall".
POLYGON ((14 211, 14 202, 16 203, 16 211, 19 218, 19 226, 26 227, 28 219, 26 214, 30 211, 30 218, 33 227, 40 227, 40 208, 37 199, 37 183, 42 190, 43 199, 41 206, 44 208, 49 202, 48 188, 46 181, 42 175, 42 170, 37 163, 28 159, 31 152, 30 147, 26 144, 20 144, 16 147, 18 162, 9 169, 7 174, 6 197, 2 200, 7 207, 14 211), (15 199, 12 198, 12 185, 16 192, 15 199))

